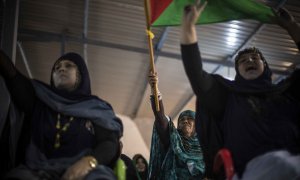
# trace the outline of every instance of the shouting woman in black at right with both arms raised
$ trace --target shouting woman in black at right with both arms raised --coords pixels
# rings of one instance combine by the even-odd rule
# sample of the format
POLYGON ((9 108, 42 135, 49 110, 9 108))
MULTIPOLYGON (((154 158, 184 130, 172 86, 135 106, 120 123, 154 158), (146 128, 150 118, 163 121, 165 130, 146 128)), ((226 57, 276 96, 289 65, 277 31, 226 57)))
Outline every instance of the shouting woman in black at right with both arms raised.
MULTIPOLYGON (((181 53, 186 73, 197 96, 196 130, 203 145, 206 175, 213 176, 211 170, 214 156, 219 148, 225 147, 232 153, 239 178, 298 177, 299 70, 284 82, 274 85, 271 70, 262 53, 257 48, 249 48, 236 57, 234 81, 205 72, 195 28, 195 22, 204 7, 205 4, 200 4, 185 8, 181 53), (279 154, 268 154, 272 151, 279 151, 279 154), (259 157, 264 154, 266 156, 263 158, 259 157), (273 159, 280 163, 272 163, 273 159), (258 160, 258 163, 249 163, 251 160, 258 160), (256 168, 263 169, 252 172, 245 170, 246 167, 255 168, 254 164, 256 168)), ((283 9, 277 15, 280 25, 287 29, 300 47, 299 25, 283 9)))

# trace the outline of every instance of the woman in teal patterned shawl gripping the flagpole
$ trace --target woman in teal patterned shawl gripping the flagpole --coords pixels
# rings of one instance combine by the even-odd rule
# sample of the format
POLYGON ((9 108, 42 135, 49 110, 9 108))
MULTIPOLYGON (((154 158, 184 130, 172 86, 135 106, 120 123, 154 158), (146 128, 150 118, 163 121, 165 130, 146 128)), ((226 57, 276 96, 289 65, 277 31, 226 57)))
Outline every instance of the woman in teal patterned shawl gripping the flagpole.
MULTIPOLYGON (((149 84, 152 89, 157 81, 157 75, 151 73, 149 84)), ((150 99, 155 116, 149 164, 150 179, 202 179, 204 162, 195 132, 195 112, 183 111, 179 115, 176 129, 164 113, 161 95, 160 111, 156 111, 153 96, 150 99)))

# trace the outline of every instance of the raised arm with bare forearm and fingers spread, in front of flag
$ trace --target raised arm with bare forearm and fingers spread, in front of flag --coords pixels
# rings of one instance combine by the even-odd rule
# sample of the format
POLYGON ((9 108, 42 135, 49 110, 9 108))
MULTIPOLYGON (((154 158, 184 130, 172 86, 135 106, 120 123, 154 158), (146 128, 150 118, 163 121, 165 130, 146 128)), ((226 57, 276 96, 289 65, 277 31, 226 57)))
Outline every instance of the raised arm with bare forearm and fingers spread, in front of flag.
POLYGON ((226 90, 213 75, 203 70, 200 51, 197 44, 195 23, 207 2, 189 5, 184 9, 181 32, 181 55, 185 72, 199 102, 212 114, 222 114, 226 103, 226 90))

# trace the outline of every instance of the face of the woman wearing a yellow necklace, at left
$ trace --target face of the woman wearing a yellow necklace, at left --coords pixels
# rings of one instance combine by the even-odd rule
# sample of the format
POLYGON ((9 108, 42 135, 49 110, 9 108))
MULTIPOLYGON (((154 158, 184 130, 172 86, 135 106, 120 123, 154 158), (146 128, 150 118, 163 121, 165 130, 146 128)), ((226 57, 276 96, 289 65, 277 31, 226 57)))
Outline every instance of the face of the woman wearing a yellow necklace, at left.
POLYGON ((57 89, 72 91, 78 84, 77 77, 78 67, 72 61, 61 60, 54 66, 52 79, 57 89))

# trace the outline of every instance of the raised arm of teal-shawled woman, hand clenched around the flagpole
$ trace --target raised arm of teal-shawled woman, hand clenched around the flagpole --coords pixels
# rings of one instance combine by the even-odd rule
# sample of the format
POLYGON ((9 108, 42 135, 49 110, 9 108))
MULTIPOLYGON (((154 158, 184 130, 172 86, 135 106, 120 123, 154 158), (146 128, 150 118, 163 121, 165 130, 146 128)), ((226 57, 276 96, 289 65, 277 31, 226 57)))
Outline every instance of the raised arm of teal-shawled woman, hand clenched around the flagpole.
MULTIPOLYGON (((149 84, 152 87, 151 91, 156 82, 158 82, 157 74, 150 72, 149 84)), ((153 94, 153 91, 152 91, 152 94, 153 94)), ((159 139, 161 140, 161 143, 164 145, 164 148, 167 149, 170 145, 169 123, 168 123, 169 120, 164 112, 162 96, 159 93, 159 109, 160 109, 159 111, 156 110, 155 100, 154 100, 153 95, 150 96, 150 100, 151 100, 152 111, 155 116, 154 124, 155 124, 156 130, 158 132, 159 139)))

